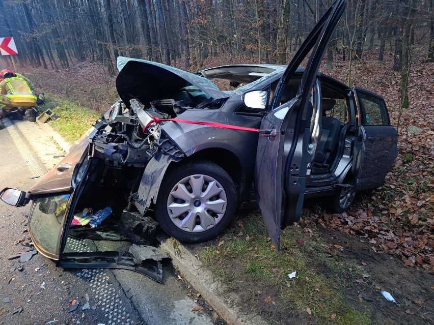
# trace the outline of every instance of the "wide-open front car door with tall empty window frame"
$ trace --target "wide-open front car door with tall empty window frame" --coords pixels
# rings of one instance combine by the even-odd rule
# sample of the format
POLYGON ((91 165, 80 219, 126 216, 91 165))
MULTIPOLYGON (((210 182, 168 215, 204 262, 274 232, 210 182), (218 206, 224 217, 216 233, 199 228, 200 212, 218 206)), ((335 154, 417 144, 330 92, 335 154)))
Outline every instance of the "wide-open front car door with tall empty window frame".
POLYGON ((312 123, 312 116, 320 112, 320 101, 314 106, 310 99, 316 97, 312 90, 316 88, 319 65, 345 5, 345 0, 335 0, 312 29, 280 79, 269 112, 261 123, 261 129, 275 132, 258 141, 256 193, 265 226, 277 250, 280 229, 299 220, 302 213, 308 164, 321 137, 320 126, 312 123), (311 50, 297 96, 282 105, 288 81, 311 50))

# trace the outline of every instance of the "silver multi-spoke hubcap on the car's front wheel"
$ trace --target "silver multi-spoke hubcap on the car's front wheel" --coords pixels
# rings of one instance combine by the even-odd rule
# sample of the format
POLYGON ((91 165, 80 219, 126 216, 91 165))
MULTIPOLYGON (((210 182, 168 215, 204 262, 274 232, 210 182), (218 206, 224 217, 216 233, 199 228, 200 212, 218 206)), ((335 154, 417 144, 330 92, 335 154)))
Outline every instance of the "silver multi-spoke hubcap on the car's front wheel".
POLYGON ((222 185, 208 175, 183 178, 169 193, 167 212, 170 220, 188 232, 202 232, 218 224, 227 206, 222 185))

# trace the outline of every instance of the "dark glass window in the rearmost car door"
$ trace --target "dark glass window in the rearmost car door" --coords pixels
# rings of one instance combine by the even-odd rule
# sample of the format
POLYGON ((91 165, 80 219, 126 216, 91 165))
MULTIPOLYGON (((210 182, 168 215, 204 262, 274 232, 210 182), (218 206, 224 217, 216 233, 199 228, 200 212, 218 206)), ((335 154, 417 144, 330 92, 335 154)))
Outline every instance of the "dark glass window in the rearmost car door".
POLYGON ((383 100, 358 92, 362 111, 362 125, 390 125, 383 100))

